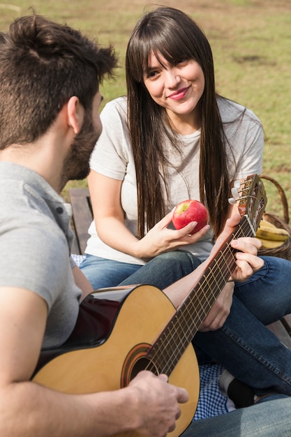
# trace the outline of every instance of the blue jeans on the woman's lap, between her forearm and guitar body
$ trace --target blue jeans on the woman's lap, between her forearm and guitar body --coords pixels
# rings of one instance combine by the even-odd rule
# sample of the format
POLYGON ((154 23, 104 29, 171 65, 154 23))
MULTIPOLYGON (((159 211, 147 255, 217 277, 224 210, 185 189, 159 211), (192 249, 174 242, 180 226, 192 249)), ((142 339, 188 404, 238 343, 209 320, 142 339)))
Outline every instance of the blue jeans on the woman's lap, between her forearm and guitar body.
POLYGON ((145 265, 128 264, 87 254, 80 269, 94 290, 137 283, 163 290, 182 276, 193 272, 198 265, 200 260, 190 252, 172 251, 156 256, 145 265))

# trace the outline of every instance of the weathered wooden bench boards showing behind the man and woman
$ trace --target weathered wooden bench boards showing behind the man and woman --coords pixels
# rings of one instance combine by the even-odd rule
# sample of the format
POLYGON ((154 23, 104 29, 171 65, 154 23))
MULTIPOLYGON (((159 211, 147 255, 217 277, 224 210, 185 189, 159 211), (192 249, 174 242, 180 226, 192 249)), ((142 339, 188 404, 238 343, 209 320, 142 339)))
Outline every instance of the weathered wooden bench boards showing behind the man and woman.
MULTIPOLYGON (((89 225, 93 216, 89 190, 87 188, 70 188, 68 197, 72 205, 72 228, 75 232, 72 253, 83 255, 89 237, 89 225)), ((268 327, 285 346, 291 349, 291 314, 268 327)))

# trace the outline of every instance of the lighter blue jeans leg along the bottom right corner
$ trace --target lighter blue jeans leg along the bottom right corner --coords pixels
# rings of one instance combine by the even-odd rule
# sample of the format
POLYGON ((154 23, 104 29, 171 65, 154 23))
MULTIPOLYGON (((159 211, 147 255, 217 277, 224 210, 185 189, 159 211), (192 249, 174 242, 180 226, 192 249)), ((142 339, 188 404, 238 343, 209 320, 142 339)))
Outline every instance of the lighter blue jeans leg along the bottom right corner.
POLYGON ((291 398, 195 420, 181 437, 290 437, 291 398))

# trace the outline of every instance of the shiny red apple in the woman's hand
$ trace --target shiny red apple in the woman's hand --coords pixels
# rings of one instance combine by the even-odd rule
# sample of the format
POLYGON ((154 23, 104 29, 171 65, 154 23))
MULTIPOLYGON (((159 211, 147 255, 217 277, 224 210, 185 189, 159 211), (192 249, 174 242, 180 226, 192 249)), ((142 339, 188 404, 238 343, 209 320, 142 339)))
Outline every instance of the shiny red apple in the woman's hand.
POLYGON ((199 200, 183 200, 174 209, 172 222, 176 229, 184 228, 191 221, 197 221, 197 225, 191 234, 195 234, 195 232, 207 225, 208 212, 199 200))

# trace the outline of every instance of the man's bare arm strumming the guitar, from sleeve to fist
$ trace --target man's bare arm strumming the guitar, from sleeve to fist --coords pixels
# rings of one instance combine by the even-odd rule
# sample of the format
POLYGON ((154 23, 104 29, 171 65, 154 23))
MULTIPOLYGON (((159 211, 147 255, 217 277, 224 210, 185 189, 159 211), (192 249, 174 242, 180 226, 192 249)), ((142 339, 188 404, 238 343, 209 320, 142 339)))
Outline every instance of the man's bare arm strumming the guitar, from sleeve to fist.
POLYGON ((136 429, 164 436, 174 429, 186 390, 143 371, 114 392, 63 394, 30 381, 40 353, 47 305, 21 288, 0 288, 0 435, 110 436, 136 429))

